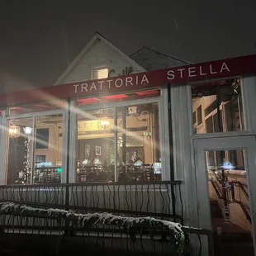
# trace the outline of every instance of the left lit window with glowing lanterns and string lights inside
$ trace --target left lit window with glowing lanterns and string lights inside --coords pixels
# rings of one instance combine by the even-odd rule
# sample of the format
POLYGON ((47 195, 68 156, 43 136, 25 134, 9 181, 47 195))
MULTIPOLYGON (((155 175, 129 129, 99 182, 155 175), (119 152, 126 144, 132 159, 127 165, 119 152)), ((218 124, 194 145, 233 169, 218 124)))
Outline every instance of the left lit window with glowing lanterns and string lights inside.
POLYGON ((8 120, 7 184, 60 183, 63 115, 8 120))

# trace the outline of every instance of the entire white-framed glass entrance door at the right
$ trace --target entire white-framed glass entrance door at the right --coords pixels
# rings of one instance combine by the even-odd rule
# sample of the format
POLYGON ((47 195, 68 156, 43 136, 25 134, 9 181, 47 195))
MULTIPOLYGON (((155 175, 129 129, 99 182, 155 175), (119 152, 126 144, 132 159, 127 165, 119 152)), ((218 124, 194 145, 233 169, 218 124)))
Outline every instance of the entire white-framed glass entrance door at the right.
POLYGON ((255 136, 196 139, 194 148, 200 227, 212 230, 216 255, 255 255, 255 136))

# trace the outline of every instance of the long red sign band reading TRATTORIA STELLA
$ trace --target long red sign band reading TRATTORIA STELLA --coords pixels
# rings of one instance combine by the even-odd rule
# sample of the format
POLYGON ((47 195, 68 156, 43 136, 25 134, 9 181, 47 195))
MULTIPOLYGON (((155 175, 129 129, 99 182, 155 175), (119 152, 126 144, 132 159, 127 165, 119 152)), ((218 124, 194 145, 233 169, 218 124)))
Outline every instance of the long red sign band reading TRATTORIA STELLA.
POLYGON ((0 105, 44 102, 66 97, 91 97, 98 93, 129 92, 157 88, 166 84, 172 86, 177 83, 203 82, 212 78, 252 74, 256 74, 256 55, 1 94, 0 105))

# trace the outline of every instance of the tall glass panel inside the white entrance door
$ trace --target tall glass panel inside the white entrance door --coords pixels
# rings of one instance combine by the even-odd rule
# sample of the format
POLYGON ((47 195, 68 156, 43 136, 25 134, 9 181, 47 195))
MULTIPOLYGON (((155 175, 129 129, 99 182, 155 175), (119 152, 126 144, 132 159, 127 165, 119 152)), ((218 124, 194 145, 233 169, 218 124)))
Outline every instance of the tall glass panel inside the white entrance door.
POLYGON ((216 254, 225 244, 238 248, 248 244, 247 254, 254 255, 249 208, 247 170, 244 150, 206 151, 211 225, 216 254))

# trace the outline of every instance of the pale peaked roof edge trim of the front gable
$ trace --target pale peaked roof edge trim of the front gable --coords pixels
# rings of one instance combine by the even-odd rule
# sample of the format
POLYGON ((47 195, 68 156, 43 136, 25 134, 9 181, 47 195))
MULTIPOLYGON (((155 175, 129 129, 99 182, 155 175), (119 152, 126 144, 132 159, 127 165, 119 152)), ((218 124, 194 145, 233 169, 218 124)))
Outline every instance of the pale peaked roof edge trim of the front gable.
POLYGON ((91 40, 89 40, 88 44, 83 48, 83 50, 76 56, 75 59, 69 64, 68 68, 64 70, 64 73, 60 75, 60 77, 55 82, 56 84, 62 83, 64 78, 67 78, 69 76, 69 73, 73 71, 73 69, 80 63, 80 61, 83 60, 83 57, 88 54, 89 50, 91 49, 92 45, 94 45, 95 42, 102 41, 104 44, 109 46, 112 50, 115 50, 119 55, 121 55, 128 63, 133 65, 139 72, 146 71, 143 67, 140 66, 140 64, 137 64, 133 59, 130 59, 128 55, 126 55, 124 52, 122 52, 116 45, 112 44, 111 41, 107 40, 105 37, 100 35, 98 32, 96 32, 91 40))

